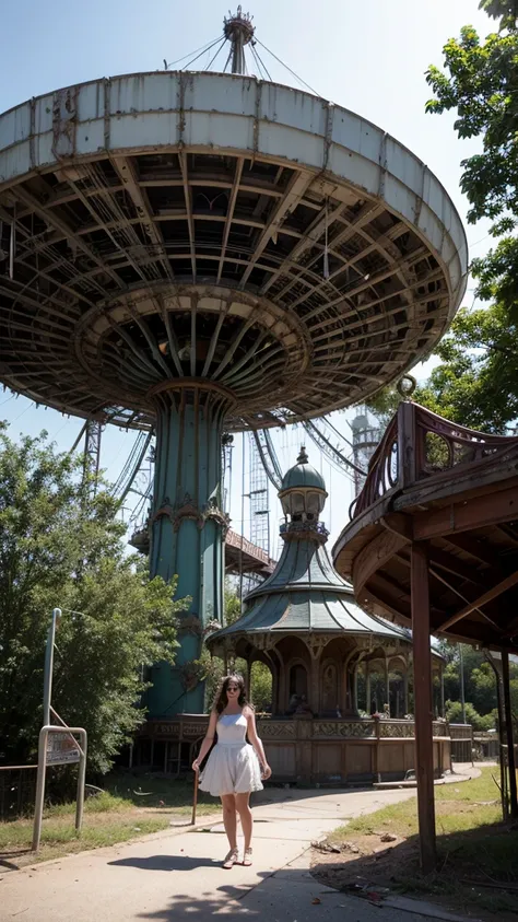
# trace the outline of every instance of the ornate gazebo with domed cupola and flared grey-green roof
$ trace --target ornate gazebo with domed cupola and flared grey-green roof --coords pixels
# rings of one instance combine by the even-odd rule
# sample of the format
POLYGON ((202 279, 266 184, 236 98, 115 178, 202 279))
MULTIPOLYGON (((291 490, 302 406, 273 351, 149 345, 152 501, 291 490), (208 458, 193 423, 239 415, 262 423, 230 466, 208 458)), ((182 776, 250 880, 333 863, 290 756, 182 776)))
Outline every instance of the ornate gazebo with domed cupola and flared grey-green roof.
MULTIPOLYGON (((408 713, 411 637, 404 628, 364 611, 355 603, 351 586, 334 570, 326 549, 328 532, 320 521, 328 497, 326 483, 309 465, 304 446, 296 465, 285 474, 279 497, 285 515, 281 526, 284 541, 281 559, 271 576, 247 595, 243 616, 211 634, 208 646, 213 655, 224 660, 226 667, 232 667, 237 656, 243 657, 248 667, 248 684, 255 662, 264 663, 271 670, 271 719, 261 726, 267 738, 270 728, 275 726, 274 735, 281 740, 283 728, 275 722, 287 717, 314 719, 317 735, 327 732, 342 739, 352 736, 365 742, 376 737, 380 723, 378 719, 361 717, 361 710, 364 713, 370 710, 372 673, 384 675, 385 701, 379 702, 385 704, 384 716, 397 719, 408 713), (364 669, 364 708, 360 709, 358 675, 364 669), (387 692, 389 676, 395 672, 401 673, 404 691, 391 697, 387 692)), ((436 651, 432 651, 432 661, 433 668, 440 675, 443 658, 436 651)), ((411 720, 381 723, 380 737, 384 732, 392 732, 401 742, 413 737, 411 720)), ((437 737, 444 732, 438 730, 437 737)), ((296 727, 294 734, 298 733, 299 727, 296 727)), ((313 730, 307 726, 307 742, 313 736, 313 730)), ((390 736, 386 738, 390 739, 390 736)), ((290 758, 292 762, 295 759, 295 749, 278 747, 276 773, 290 774, 287 763, 290 758)), ((367 749, 355 754, 356 766, 343 770, 342 763, 348 759, 342 749, 340 746, 331 755, 331 747, 325 747, 325 761, 327 757, 330 763, 337 762, 334 769, 327 772, 328 780, 329 774, 335 778, 340 774, 340 780, 354 774, 402 775, 413 767, 411 752, 399 747, 390 754, 385 771, 382 759, 375 767, 373 754, 367 749)), ((447 761, 442 751, 437 759, 439 770, 447 761)), ((317 752, 311 757, 311 769, 306 767, 303 773, 313 780, 326 780, 326 768, 320 766, 319 769, 318 762, 317 752)), ((296 774, 298 769, 299 766, 296 774)))

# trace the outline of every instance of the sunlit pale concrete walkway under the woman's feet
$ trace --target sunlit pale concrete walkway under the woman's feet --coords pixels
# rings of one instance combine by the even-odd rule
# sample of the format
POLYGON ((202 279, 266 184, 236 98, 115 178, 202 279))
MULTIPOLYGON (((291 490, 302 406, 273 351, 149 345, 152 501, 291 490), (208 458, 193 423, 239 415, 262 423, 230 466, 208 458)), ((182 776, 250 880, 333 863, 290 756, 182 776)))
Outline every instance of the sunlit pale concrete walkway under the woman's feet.
MULTIPOLYGON (((464 779, 479 772, 457 766, 464 779)), ((455 779, 459 782, 459 775, 455 779)), ((254 866, 223 871, 221 825, 161 832, 125 845, 0 872, 0 918, 21 922, 205 922, 244 915, 267 922, 424 922, 402 906, 382 911, 318 884, 309 874, 311 841, 346 817, 373 813, 415 791, 267 790, 256 801, 254 866), (314 902, 319 900, 320 902, 314 902)), ((209 822, 208 820, 205 822, 209 822)), ((433 911, 433 908, 432 910, 433 911)), ((444 915, 435 918, 447 918, 444 915)))

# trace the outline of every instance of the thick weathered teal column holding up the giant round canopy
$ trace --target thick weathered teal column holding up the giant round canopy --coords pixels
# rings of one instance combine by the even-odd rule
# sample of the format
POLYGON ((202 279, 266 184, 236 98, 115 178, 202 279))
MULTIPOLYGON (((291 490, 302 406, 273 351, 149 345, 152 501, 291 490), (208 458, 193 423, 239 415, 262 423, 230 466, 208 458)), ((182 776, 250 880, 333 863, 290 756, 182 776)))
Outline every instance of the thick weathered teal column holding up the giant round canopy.
POLYGON ((203 713, 199 660, 207 626, 223 623, 224 538, 221 455, 223 421, 231 392, 192 378, 154 388, 156 459, 150 570, 169 581, 175 598, 186 598, 174 666, 153 667, 146 695, 150 717, 203 713))

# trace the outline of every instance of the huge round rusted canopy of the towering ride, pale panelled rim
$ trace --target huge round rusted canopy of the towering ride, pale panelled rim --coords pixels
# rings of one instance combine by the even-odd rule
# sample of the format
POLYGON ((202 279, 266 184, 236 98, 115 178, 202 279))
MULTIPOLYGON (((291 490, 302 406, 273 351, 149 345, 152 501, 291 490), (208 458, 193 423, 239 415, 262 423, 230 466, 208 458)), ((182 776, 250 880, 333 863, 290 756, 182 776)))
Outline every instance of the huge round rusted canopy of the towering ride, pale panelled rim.
POLYGON ((345 407, 428 353, 467 245, 440 183, 358 116, 254 78, 144 73, 0 116, 0 380, 153 424, 212 381, 239 430, 345 407))

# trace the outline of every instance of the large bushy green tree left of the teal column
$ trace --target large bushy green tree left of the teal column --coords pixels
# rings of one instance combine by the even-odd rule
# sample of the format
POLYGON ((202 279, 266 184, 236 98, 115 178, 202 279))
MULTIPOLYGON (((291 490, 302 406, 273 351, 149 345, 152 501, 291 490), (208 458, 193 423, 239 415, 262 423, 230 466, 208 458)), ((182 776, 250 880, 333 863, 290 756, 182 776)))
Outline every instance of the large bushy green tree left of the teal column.
POLYGON ((0 737, 7 762, 35 751, 52 608, 52 704, 89 734, 91 769, 106 771, 145 717, 143 667, 173 662, 173 585, 150 582, 125 555, 113 497, 89 499, 81 459, 57 454, 46 433, 15 444, 0 431, 0 737))

